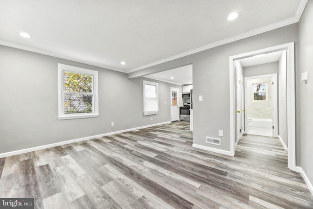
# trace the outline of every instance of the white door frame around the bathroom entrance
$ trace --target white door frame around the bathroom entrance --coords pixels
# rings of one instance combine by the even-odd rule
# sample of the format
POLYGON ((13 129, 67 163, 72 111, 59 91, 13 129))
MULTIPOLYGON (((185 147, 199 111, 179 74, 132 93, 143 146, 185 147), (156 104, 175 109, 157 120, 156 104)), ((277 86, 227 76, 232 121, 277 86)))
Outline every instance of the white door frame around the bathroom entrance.
MULTIPOLYGON (((277 73, 272 74, 264 74, 264 75, 257 75, 257 76, 250 76, 245 77, 245 110, 247 110, 246 104, 247 104, 247 80, 249 79, 255 79, 255 78, 264 78, 264 77, 271 77, 274 78, 274 85, 272 86, 273 92, 274 92, 274 137, 278 137, 278 94, 277 94, 277 73)), ((245 124, 248 124, 248 116, 245 114, 245 124)), ((246 130, 246 127, 245 127, 246 130)))

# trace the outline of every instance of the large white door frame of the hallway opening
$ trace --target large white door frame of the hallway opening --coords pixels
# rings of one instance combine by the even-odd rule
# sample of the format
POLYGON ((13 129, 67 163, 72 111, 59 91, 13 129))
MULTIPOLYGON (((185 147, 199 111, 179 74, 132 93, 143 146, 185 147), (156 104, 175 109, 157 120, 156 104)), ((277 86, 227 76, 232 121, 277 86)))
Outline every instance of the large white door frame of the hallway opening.
POLYGON ((229 97, 230 97, 230 155, 235 156, 236 140, 236 70, 234 61, 253 55, 286 50, 287 55, 287 144, 288 168, 296 171, 295 155, 295 67, 294 42, 250 51, 229 57, 229 97))

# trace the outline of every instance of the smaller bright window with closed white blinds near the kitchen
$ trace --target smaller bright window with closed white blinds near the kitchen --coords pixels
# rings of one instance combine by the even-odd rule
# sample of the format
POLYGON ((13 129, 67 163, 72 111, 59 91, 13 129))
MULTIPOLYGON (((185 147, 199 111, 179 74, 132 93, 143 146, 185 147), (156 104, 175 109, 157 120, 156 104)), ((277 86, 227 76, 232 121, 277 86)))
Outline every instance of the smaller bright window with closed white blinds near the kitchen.
POLYGON ((158 84, 143 81, 143 115, 155 115, 158 112, 158 84))

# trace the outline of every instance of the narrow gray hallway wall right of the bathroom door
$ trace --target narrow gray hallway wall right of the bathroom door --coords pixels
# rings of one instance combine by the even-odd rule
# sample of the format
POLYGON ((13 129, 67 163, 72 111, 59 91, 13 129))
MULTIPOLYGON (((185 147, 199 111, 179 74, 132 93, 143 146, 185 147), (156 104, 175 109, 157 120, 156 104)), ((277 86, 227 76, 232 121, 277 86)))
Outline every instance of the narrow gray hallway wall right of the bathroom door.
POLYGON ((282 56, 278 62, 279 73, 278 73, 278 135, 287 144, 287 60, 286 50, 283 51, 282 56))

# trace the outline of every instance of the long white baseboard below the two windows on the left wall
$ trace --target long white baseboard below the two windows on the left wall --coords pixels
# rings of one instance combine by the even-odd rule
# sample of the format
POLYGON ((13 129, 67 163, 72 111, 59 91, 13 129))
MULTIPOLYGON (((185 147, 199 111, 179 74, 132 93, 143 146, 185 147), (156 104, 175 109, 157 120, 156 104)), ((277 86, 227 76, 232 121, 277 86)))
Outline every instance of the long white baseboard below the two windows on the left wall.
POLYGON ((78 141, 84 141, 84 140, 88 140, 88 139, 96 139, 96 138, 100 138, 100 137, 110 136, 113 134, 120 134, 123 132, 134 131, 137 129, 149 128, 152 126, 163 125, 163 124, 168 124, 168 123, 171 123, 171 121, 156 123, 156 124, 151 124, 151 125, 146 125, 146 126, 141 126, 141 127, 135 127, 135 128, 125 129, 125 130, 120 130, 120 131, 114 131, 114 132, 110 132, 110 133, 99 134, 99 135, 94 135, 94 136, 84 137, 84 138, 79 138, 79 139, 60 141, 57 143, 46 144, 46 145, 36 146, 36 147, 30 147, 30 148, 26 148, 26 149, 11 151, 11 152, 0 153, 0 158, 5 158, 5 157, 13 156, 13 155, 19 155, 19 154, 27 153, 27 152, 33 152, 33 151, 51 148, 51 147, 55 147, 55 146, 61 146, 64 144, 74 143, 74 142, 78 142, 78 141))

